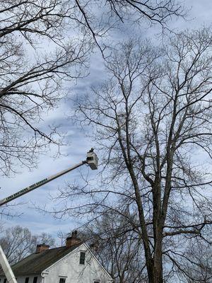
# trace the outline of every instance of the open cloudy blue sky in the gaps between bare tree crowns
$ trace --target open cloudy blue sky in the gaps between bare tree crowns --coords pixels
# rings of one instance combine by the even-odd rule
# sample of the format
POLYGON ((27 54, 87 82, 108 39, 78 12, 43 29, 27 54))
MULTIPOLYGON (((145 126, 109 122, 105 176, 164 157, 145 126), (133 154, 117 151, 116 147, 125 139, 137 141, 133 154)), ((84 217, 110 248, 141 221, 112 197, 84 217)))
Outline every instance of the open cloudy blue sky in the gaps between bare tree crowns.
MULTIPOLYGON (((203 25, 211 25, 211 0, 187 0, 184 1, 184 6, 190 9, 187 21, 183 19, 172 21, 172 23, 170 23, 171 28, 182 30, 184 28, 199 28, 203 25)), ((129 25, 124 25, 124 28, 116 32, 116 34, 114 33, 113 37, 116 40, 126 39, 130 28, 129 25)), ((153 37, 157 33, 158 28, 155 26, 141 31, 143 37, 153 37)), ((70 93, 76 93, 76 95, 80 96, 86 91, 89 91, 90 86, 97 85, 103 81, 104 78, 104 67, 100 54, 93 54, 90 61, 90 75, 86 77, 86 79, 78 80, 77 84, 70 86, 69 91, 70 93)), ((72 96, 73 94, 71 94, 70 98, 72 98, 72 96)), ((22 173, 11 176, 11 178, 1 177, 0 194, 2 199, 24 187, 28 187, 33 183, 47 178, 49 175, 58 173, 59 171, 69 168, 69 166, 73 166, 85 160, 86 152, 92 146, 95 146, 95 144, 86 137, 86 134, 82 132, 79 127, 73 125, 71 120, 69 120, 68 117, 72 111, 72 101, 64 100, 58 108, 49 112, 49 115, 45 117, 45 123, 47 125, 57 121, 66 132, 66 141, 68 141, 69 144, 61 149, 64 156, 59 156, 59 158, 54 159, 51 157, 53 151, 48 151, 45 155, 40 156, 37 168, 33 171, 25 169, 22 173)), ((52 202, 50 195, 55 197, 59 187, 64 186, 67 181, 74 183, 81 178, 81 173, 87 174, 88 171, 89 169, 84 166, 84 168, 68 173, 13 201, 12 204, 20 202, 22 204, 10 207, 11 213, 16 216, 2 217, 1 222, 4 224, 4 227, 20 225, 28 227, 28 229, 35 234, 46 232, 56 238, 59 231, 68 233, 73 229, 77 229, 83 224, 83 220, 71 218, 54 219, 52 215, 42 214, 35 209, 35 207, 43 207, 45 204, 48 204, 49 207, 54 207, 54 202, 52 202)), ((97 171, 90 171, 89 174, 90 177, 95 178, 97 171)))

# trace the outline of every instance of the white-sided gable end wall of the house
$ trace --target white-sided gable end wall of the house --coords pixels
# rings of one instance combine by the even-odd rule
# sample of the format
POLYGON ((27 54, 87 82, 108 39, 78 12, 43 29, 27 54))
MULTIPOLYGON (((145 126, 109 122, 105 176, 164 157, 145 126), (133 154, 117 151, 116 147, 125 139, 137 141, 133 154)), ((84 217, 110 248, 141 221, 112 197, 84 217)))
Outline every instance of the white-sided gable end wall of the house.
POLYGON ((100 283, 111 282, 110 277, 84 244, 49 267, 45 272, 48 274, 45 275, 43 283, 59 283, 59 277, 65 277, 66 283, 93 283, 95 279, 100 280, 100 283), (79 264, 81 251, 86 251, 85 265, 79 264))

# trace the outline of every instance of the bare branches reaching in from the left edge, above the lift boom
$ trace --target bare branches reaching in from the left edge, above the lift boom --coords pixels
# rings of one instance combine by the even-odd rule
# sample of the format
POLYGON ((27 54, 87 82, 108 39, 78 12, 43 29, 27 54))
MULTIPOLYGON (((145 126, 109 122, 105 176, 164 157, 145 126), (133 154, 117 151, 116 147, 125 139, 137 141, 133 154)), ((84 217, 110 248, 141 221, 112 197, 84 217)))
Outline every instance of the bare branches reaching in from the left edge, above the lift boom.
POLYGON ((88 42, 83 34, 66 36, 69 1, 1 2, 0 171, 8 175, 18 165, 32 167, 49 144, 60 144, 57 125, 38 124, 66 96, 64 81, 83 75, 88 42))

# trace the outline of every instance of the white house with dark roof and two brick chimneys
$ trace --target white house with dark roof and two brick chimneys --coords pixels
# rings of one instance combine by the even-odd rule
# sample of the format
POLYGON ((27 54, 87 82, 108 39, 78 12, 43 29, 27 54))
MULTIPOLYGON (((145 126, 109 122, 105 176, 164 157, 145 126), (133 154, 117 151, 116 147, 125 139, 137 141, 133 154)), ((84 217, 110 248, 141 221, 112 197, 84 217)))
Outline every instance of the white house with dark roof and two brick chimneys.
MULTIPOLYGON (((66 238, 66 246, 51 248, 42 244, 32 255, 12 266, 18 283, 110 283, 112 277, 100 265, 77 232, 66 238)), ((6 283, 0 273, 0 283, 6 283)))

